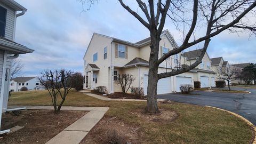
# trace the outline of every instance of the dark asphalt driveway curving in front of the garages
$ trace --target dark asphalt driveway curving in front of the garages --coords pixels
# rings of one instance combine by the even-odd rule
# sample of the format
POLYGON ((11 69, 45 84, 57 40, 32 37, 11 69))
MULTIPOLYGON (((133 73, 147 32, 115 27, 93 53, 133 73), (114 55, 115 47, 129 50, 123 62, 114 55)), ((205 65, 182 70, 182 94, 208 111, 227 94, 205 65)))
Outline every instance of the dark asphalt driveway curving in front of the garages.
POLYGON ((233 88, 233 90, 246 90, 251 93, 237 94, 195 91, 191 94, 160 94, 158 98, 226 109, 245 117, 256 125, 256 89, 233 88))

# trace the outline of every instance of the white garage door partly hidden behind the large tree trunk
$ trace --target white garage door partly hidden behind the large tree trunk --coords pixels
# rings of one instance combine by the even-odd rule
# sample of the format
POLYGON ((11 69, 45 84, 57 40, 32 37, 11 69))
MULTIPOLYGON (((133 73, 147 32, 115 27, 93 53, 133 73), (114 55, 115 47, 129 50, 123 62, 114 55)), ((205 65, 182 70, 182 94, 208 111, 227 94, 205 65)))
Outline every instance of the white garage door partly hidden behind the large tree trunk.
MULTIPOLYGON (((144 94, 147 95, 148 75, 144 76, 144 94)), ((171 77, 162 78, 157 83, 157 94, 171 93, 171 77)))

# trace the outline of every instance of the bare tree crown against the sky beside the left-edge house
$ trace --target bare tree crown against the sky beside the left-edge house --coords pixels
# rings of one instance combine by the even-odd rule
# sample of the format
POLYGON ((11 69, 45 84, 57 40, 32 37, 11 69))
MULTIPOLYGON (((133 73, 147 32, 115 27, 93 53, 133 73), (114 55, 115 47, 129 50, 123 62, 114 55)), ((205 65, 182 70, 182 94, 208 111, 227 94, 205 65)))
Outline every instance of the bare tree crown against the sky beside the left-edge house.
POLYGON ((10 78, 15 78, 19 75, 20 71, 24 68, 23 63, 18 59, 12 59, 11 75, 10 78))

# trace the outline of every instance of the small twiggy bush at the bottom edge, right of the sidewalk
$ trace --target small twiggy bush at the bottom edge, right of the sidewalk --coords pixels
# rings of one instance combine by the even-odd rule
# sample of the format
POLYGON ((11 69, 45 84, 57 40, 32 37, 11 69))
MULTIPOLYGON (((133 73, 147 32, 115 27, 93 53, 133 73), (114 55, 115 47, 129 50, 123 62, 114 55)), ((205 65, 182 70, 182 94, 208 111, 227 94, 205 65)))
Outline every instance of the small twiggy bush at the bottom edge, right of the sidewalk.
POLYGON ((108 144, 123 144, 125 139, 119 135, 116 130, 109 130, 106 134, 106 141, 104 143, 108 144))

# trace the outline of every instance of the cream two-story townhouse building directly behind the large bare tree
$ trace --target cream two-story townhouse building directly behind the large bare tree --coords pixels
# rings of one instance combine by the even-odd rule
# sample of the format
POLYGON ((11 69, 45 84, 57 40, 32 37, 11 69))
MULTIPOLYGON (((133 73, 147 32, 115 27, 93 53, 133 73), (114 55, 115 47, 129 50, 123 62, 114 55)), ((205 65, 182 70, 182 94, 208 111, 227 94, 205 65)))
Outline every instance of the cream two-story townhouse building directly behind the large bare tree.
MULTIPOLYGON (((161 39, 159 58, 174 47, 178 47, 168 30, 163 31, 161 39)), ((94 33, 83 58, 83 88, 92 90, 97 86, 106 86, 109 93, 121 92, 121 86, 116 84, 118 75, 131 74, 136 78, 131 86, 143 87, 146 94, 150 54, 149 44, 150 37, 137 43, 131 43, 94 33)), ((180 57, 180 54, 173 55, 162 62, 159 65, 158 73, 179 68, 180 57)), ((186 55, 183 58, 186 59, 186 63, 196 59, 189 59, 186 55)), ((202 66, 203 68, 198 66, 189 73, 160 79, 157 93, 178 92, 181 84, 194 85, 193 81, 201 80, 205 83, 205 87, 210 87, 212 85, 211 77, 214 77, 214 74, 210 68, 207 68, 210 65, 206 63, 211 62, 207 54, 203 61, 205 62, 204 66, 202 66), (207 81, 204 77, 207 77, 207 81)))

